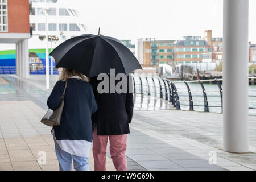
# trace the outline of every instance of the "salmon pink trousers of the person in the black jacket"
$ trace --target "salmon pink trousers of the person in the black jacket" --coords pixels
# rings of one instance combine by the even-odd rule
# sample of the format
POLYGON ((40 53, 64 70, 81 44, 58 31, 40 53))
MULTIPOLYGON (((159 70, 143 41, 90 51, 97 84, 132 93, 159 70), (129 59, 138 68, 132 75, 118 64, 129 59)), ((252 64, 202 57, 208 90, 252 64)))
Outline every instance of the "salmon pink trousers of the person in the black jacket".
POLYGON ((106 149, 110 144, 110 155, 117 171, 127 171, 125 156, 127 134, 124 135, 97 135, 97 128, 93 131, 93 158, 94 170, 106 171, 106 149))

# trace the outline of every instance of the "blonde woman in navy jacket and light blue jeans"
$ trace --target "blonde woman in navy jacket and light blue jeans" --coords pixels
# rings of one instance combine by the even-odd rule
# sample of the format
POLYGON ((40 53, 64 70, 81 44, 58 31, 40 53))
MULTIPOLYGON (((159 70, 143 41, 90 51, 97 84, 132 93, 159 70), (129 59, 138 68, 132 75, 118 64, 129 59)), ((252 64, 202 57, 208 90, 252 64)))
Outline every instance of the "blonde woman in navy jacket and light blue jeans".
POLYGON ((63 68, 47 100, 49 109, 55 110, 60 105, 66 80, 60 125, 52 129, 56 156, 61 171, 71 170, 72 159, 77 171, 87 171, 93 140, 91 115, 97 110, 97 104, 88 78, 80 72, 63 68))

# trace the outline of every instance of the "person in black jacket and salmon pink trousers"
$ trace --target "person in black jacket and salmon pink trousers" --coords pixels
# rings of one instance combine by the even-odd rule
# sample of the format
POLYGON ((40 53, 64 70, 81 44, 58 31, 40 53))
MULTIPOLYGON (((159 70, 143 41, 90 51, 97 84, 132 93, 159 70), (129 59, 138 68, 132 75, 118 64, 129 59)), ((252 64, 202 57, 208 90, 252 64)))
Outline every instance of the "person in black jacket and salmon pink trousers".
MULTIPOLYGON (((92 115, 94 170, 106 170, 106 150, 109 139, 110 155, 117 171, 127 171, 126 140, 133 118, 133 93, 98 93, 100 81, 90 79, 98 110, 92 115)), ((115 81, 115 85, 117 81, 115 81)), ((109 83, 110 85, 110 83, 109 83)), ((128 88, 128 86, 127 86, 128 88)))

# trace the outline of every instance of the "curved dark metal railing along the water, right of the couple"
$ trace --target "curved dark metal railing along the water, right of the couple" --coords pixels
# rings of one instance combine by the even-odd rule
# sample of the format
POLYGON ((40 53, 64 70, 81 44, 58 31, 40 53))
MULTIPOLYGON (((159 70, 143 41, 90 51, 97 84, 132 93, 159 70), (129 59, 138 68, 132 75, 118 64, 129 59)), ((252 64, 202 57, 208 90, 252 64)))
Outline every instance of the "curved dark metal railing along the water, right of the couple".
MULTIPOLYGON (((170 81, 166 78, 161 77, 146 77, 146 76, 139 76, 133 75, 133 91, 134 93, 139 94, 147 94, 148 96, 154 96, 163 98, 164 100, 168 100, 170 104, 172 104, 176 109, 180 109, 181 106, 188 106, 189 110, 193 111, 194 107, 203 107, 205 112, 209 112, 210 107, 218 107, 221 109, 221 113, 223 112, 223 93, 222 93, 222 78, 221 79, 211 79, 211 80, 194 80, 194 81, 170 81), (144 80, 144 81, 143 81, 144 80), (217 90, 206 90, 205 89, 205 82, 215 82, 217 85, 217 90), (189 84, 191 83, 198 83, 201 87, 201 90, 191 91, 191 87, 189 84), (185 84, 186 90, 179 91, 177 89, 177 85, 185 84), (207 93, 208 92, 208 93, 207 93), (216 93, 218 94, 209 94, 216 93), (187 93, 187 94, 185 94, 187 93), (199 94, 192 94, 192 93, 199 93, 199 94), (201 93, 201 94, 200 94, 201 93), (182 97, 188 97, 188 100, 181 100, 182 97), (203 97, 203 103, 195 104, 195 98, 203 97), (210 101, 210 102, 218 102, 220 105, 210 105, 209 104, 209 97, 218 97, 220 101, 210 101), (181 101, 187 102, 187 104, 181 103, 181 101)), ((255 79, 256 77, 249 77, 249 79, 255 79)), ((256 90, 249 90, 250 92, 256 93, 256 90)), ((249 94, 249 97, 256 97, 254 94, 249 94)), ((198 102, 198 100, 197 100, 198 102)), ((249 103, 255 103, 256 101, 249 101, 249 103)), ((249 107, 249 109, 256 109, 256 107, 249 107)))

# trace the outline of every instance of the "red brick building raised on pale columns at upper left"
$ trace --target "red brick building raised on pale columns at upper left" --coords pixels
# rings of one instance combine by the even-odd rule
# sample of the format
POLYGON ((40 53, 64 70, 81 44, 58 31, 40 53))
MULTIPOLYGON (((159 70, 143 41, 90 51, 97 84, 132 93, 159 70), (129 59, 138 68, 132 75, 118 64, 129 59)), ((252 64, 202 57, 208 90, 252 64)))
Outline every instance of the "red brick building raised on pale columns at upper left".
POLYGON ((16 44, 16 75, 28 77, 30 3, 28 0, 0 0, 0 14, 0 43, 16 44))

